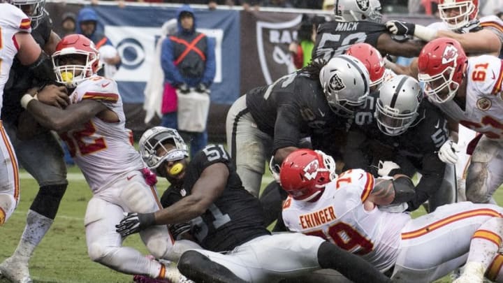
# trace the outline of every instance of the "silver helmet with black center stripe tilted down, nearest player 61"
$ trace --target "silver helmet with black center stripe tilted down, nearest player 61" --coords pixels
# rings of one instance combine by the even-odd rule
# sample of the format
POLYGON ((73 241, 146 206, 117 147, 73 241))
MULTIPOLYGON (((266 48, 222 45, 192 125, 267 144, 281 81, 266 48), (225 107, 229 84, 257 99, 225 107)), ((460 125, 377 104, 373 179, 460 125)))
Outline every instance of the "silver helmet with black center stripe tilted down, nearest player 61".
POLYGON ((423 94, 419 82, 408 75, 397 75, 379 89, 375 117, 381 132, 398 136, 418 117, 423 94))

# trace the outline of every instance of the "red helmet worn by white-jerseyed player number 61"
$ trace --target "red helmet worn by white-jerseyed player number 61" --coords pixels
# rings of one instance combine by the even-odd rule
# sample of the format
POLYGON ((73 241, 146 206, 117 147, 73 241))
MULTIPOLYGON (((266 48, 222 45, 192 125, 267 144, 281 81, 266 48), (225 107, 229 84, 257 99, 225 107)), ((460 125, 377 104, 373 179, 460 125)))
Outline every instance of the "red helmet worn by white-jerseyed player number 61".
POLYGON ((425 82, 425 95, 437 103, 453 99, 465 78, 467 62, 455 39, 437 38, 426 44, 418 57, 418 79, 425 82))

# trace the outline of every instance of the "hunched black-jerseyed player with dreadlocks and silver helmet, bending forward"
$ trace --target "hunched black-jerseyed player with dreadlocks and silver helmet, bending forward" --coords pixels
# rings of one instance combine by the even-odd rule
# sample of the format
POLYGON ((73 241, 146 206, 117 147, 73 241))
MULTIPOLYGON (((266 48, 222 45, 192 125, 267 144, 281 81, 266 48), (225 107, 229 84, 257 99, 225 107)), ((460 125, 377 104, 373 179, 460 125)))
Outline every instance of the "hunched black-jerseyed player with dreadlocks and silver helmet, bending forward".
POLYGON ((313 147, 341 146, 351 108, 369 93, 369 74, 354 57, 341 55, 315 61, 271 85, 256 87, 241 96, 227 114, 227 146, 245 189, 258 196, 265 163, 275 164, 311 137, 313 147), (334 136, 336 138, 330 138, 334 136), (323 145, 326 143, 327 145, 323 145))

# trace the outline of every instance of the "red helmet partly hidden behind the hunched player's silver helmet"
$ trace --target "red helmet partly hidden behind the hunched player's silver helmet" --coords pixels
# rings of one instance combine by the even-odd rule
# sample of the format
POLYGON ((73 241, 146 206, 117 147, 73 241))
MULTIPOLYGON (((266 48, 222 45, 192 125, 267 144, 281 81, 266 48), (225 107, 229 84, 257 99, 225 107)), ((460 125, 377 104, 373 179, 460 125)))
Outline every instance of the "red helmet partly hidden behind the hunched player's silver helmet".
POLYGON ((356 43, 346 50, 351 55, 362 61, 370 74, 370 87, 379 85, 384 80, 384 59, 381 53, 368 43, 356 43))

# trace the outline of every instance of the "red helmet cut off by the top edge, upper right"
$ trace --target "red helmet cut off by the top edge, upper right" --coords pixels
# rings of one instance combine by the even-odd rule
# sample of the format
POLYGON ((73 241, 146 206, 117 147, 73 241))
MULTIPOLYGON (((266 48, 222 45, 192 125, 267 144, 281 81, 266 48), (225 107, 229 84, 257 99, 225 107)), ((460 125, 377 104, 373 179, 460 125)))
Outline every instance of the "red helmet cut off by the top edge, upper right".
POLYGON ((439 0, 440 18, 450 29, 458 29, 479 13, 479 0, 439 0))

